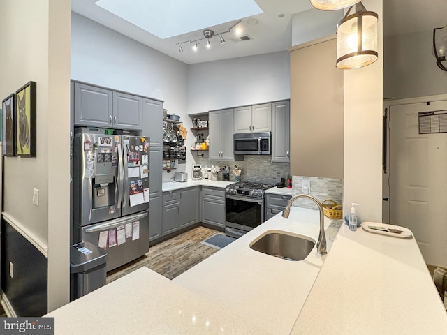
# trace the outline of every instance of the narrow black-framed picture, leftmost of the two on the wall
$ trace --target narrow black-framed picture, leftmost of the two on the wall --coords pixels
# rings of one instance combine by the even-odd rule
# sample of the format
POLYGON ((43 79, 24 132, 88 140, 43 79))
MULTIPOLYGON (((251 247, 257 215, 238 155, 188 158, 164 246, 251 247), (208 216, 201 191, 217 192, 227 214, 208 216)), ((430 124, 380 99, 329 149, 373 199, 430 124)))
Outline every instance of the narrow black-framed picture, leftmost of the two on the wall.
POLYGON ((15 156, 15 94, 1 103, 3 108, 3 155, 15 156))

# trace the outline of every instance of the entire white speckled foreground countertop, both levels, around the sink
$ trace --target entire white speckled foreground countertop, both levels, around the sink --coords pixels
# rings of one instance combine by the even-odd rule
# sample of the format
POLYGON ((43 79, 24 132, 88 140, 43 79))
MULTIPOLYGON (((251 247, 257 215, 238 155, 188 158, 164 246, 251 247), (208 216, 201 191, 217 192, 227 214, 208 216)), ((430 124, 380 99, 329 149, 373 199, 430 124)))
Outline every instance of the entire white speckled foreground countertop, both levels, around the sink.
POLYGON ((140 269, 47 316, 56 334, 446 334, 413 237, 351 232, 325 218, 328 255, 314 247, 292 262, 249 247, 278 230, 316 241, 318 217, 292 207, 173 281, 140 269))

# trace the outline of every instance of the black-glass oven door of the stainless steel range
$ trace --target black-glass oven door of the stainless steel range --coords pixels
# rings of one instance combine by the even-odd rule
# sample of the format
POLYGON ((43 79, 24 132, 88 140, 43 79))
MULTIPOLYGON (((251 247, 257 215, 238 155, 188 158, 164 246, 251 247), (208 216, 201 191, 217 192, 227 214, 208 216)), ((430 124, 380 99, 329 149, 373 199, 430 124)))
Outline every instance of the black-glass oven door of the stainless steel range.
POLYGON ((226 195, 226 230, 234 228, 235 232, 244 234, 264 222, 264 200, 226 195))

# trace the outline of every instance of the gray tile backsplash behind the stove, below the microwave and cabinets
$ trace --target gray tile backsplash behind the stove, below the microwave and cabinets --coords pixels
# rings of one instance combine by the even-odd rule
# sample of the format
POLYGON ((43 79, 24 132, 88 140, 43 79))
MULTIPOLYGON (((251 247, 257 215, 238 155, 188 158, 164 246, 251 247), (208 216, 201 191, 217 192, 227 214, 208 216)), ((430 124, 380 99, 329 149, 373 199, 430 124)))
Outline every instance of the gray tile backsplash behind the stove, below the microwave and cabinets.
MULTIPOLYGON (((263 182, 268 184, 278 184, 281 178, 287 180, 290 174, 290 163, 272 162, 272 156, 245 155, 244 161, 210 161, 208 158, 196 157, 196 163, 211 168, 211 165, 230 167, 230 181, 235 181, 233 169, 235 165, 242 170, 241 181, 263 182)), ((219 179, 222 174, 219 173, 219 179)))

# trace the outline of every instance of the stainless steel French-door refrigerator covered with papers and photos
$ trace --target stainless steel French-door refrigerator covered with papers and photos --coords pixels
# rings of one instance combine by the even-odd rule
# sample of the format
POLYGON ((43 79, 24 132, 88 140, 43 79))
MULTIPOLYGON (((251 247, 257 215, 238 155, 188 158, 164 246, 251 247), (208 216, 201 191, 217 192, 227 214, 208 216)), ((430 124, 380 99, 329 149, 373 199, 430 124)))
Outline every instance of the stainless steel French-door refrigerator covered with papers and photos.
POLYGON ((105 249, 110 271, 149 251, 149 137, 85 131, 73 148, 73 244, 105 249))

